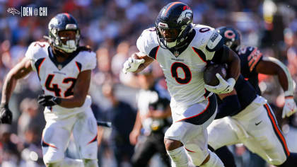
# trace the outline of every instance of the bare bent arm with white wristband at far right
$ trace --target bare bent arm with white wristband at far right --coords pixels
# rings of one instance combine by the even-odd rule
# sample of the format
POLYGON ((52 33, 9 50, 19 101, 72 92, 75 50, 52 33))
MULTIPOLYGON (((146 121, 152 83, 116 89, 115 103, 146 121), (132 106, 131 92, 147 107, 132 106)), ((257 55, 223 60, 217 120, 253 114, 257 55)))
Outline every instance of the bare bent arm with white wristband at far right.
POLYGON ((286 65, 273 57, 263 57, 262 60, 258 62, 255 70, 260 74, 276 75, 278 77, 279 84, 281 84, 285 95, 282 117, 289 117, 293 113, 296 113, 297 107, 293 100, 293 79, 286 65))

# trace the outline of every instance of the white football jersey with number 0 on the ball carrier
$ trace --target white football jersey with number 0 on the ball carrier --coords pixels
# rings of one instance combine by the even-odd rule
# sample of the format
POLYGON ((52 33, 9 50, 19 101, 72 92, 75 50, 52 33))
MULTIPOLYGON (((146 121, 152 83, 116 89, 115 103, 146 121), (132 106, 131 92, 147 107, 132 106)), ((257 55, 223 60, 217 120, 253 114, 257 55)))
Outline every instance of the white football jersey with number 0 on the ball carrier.
MULTIPOLYGON (((172 97, 170 107, 175 115, 182 115, 195 103, 205 103, 205 107, 208 105, 207 96, 211 93, 206 93, 204 88, 203 71, 206 61, 213 59, 214 52, 223 46, 222 37, 214 28, 194 25, 193 30, 195 31, 193 40, 181 53, 173 53, 161 47, 155 28, 144 30, 136 43, 140 52, 156 59, 163 69, 168 91, 172 97)), ((197 114, 199 113, 193 113, 197 114)), ((185 118, 177 117, 173 115, 173 120, 185 118)))

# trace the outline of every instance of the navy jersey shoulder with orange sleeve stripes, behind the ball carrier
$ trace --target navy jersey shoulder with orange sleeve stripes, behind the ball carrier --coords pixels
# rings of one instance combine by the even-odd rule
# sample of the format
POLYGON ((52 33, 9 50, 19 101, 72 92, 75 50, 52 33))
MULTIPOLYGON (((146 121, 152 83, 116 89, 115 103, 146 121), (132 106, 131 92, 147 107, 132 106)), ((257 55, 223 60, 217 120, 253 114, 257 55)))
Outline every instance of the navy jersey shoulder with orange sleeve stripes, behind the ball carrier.
POLYGON ((262 60, 262 53, 257 47, 242 47, 237 54, 240 57, 240 73, 255 88, 257 94, 261 94, 258 85, 257 64, 262 60))

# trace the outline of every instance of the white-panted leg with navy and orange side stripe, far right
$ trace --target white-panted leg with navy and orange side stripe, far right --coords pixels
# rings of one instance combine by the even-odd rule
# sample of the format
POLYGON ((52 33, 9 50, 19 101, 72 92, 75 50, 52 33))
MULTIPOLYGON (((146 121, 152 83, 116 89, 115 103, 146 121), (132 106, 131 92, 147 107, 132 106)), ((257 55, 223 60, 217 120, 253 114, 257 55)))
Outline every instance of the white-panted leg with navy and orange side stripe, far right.
POLYGON ((250 120, 239 120, 255 139, 245 145, 268 163, 279 166, 290 154, 286 140, 268 104, 260 105, 255 111, 258 113, 257 117, 250 115, 250 120))

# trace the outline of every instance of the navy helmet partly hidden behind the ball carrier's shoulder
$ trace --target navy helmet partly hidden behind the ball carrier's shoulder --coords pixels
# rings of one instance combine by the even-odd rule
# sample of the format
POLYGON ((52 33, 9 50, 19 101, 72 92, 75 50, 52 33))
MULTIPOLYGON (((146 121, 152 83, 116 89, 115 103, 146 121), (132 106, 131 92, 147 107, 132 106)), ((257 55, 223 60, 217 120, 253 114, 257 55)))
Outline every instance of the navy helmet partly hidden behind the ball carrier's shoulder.
POLYGON ((216 31, 223 37, 224 44, 233 51, 238 51, 240 47, 240 33, 232 27, 223 26, 216 28, 216 31))

